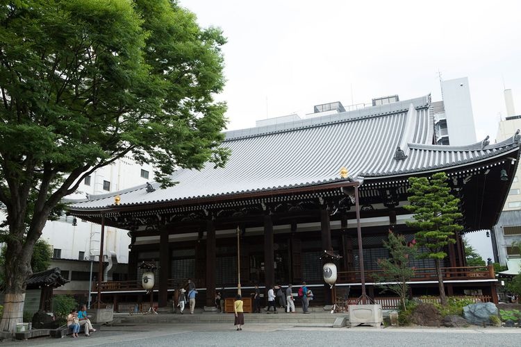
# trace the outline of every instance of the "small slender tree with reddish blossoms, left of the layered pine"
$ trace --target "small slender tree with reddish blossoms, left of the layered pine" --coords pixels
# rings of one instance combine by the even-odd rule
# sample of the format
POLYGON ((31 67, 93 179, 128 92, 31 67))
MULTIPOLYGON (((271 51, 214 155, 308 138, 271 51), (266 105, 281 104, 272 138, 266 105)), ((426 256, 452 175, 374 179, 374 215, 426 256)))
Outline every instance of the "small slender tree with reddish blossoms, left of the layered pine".
POLYGON ((404 310, 407 310, 406 301, 409 289, 407 282, 414 276, 414 270, 409 266, 409 262, 416 255, 416 247, 407 246, 403 235, 396 235, 390 230, 383 246, 389 251, 389 257, 378 260, 382 273, 380 276, 375 276, 375 280, 383 291, 392 291, 397 294, 402 300, 404 310))

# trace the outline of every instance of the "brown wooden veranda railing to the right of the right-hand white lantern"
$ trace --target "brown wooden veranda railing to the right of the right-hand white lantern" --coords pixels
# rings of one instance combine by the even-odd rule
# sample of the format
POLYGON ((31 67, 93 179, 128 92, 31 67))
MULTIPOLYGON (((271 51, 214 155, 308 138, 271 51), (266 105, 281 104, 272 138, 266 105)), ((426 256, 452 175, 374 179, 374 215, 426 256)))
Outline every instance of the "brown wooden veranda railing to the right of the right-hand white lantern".
MULTIPOLYGON (((414 268, 413 268, 414 269, 414 268)), ((456 266, 441 268, 444 280, 477 280, 495 278, 493 266, 456 266)), ((383 271, 365 271, 365 282, 377 282, 383 271)), ((411 282, 438 280, 435 268, 414 269, 411 282)), ((338 271, 337 283, 356 283, 361 281, 361 271, 338 271)))

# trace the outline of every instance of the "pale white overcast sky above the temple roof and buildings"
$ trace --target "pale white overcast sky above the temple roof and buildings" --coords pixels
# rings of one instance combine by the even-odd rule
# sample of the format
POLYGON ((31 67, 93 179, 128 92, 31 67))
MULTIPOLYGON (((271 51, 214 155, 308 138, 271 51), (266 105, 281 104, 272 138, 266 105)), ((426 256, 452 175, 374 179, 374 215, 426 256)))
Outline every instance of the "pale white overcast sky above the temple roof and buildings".
POLYGON ((521 113, 521 1, 181 0, 220 26, 229 129, 377 96, 440 100, 468 76, 477 138, 497 132, 504 85, 521 113))

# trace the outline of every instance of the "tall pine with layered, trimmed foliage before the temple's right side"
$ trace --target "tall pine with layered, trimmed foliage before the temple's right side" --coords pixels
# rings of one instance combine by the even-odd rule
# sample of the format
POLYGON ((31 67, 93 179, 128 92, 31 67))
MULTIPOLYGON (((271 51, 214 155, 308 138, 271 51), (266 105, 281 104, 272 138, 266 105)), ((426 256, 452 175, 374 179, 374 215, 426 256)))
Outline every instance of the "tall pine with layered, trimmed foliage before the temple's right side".
POLYGON ((458 212, 459 199, 451 194, 444 172, 433 174, 430 180, 425 177, 411 177, 409 184, 410 205, 404 208, 414 213, 415 221, 408 222, 407 225, 419 230, 415 235, 417 245, 427 250, 419 253, 418 257, 434 260, 440 301, 445 306, 447 296, 443 286, 441 261, 447 257, 445 248, 456 242, 454 233, 463 230, 463 226, 456 223, 456 219, 463 217, 458 212))

